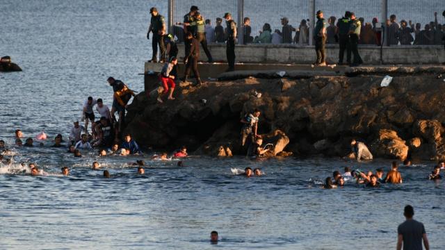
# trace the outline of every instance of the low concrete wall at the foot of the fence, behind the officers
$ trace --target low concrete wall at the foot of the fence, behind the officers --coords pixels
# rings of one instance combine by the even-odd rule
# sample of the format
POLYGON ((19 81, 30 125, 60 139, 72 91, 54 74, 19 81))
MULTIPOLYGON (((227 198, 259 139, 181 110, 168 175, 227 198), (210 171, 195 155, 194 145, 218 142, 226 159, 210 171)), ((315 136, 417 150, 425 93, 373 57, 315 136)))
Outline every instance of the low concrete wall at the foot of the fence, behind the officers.
MULTIPOLYGON (((179 58, 184 57, 184 44, 178 44, 179 58)), ((215 61, 226 61, 225 44, 210 44, 209 50, 215 61)), ((200 50, 201 60, 207 60, 204 50, 200 50)), ((326 45, 327 62, 337 63, 339 47, 326 45)), ((249 44, 237 45, 236 63, 295 63, 309 64, 316 59, 314 47, 294 44, 249 44)), ((426 65, 445 62, 445 49, 442 45, 359 47, 359 53, 366 65, 401 64, 426 65)), ((346 60, 346 55, 345 55, 346 60)))

